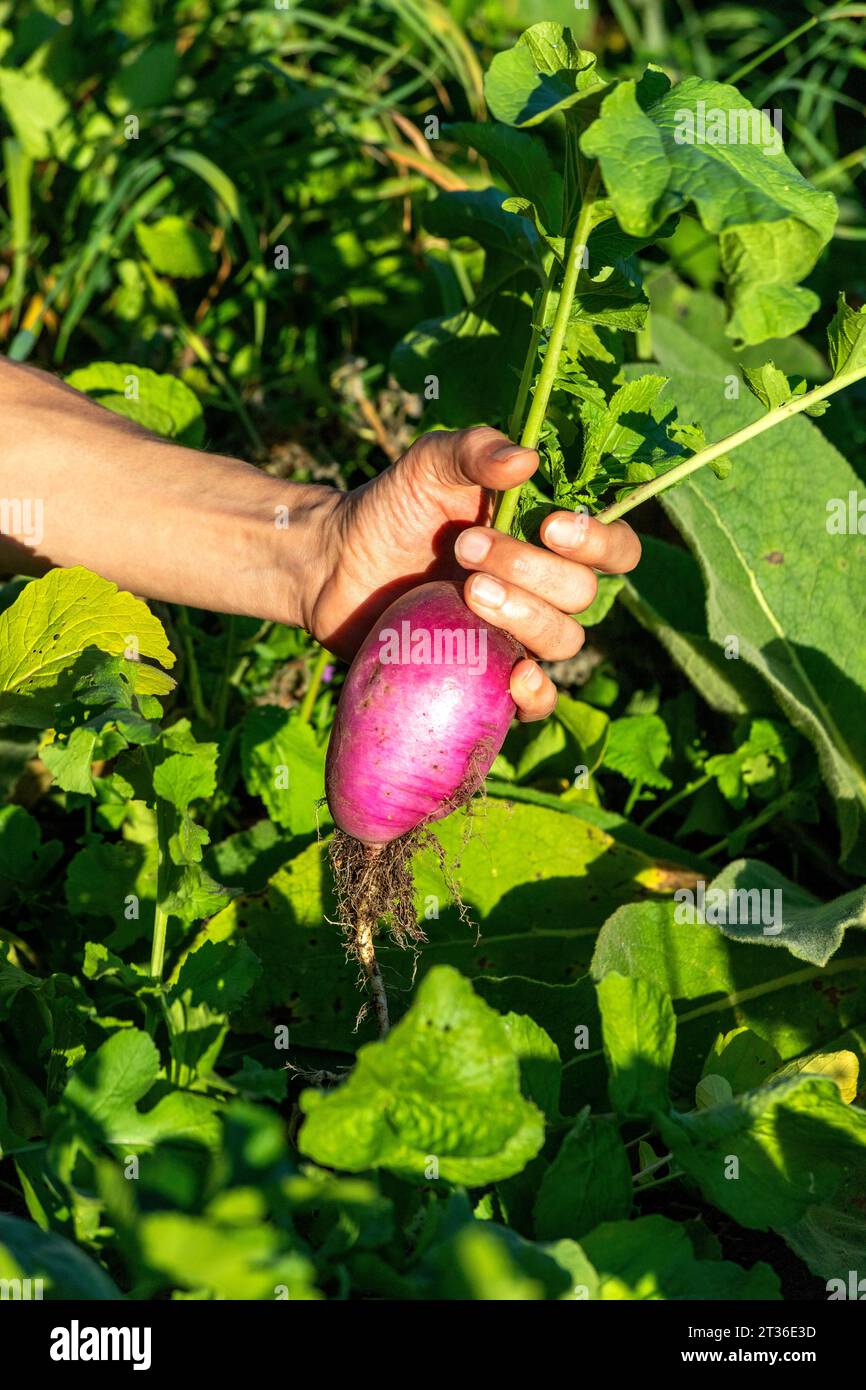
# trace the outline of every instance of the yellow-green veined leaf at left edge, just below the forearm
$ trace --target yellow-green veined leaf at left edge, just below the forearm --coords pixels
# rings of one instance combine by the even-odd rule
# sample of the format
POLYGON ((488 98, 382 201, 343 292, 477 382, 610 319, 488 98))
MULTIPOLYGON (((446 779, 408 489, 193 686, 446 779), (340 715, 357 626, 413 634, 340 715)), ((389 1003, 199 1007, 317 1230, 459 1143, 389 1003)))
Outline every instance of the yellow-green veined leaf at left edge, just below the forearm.
MULTIPOLYGON (((163 624, 140 599, 89 570, 51 570, 0 613, 0 723, 44 728, 101 653, 142 656, 174 666, 163 624)), ((136 691, 172 682, 153 666, 128 662, 136 691)))

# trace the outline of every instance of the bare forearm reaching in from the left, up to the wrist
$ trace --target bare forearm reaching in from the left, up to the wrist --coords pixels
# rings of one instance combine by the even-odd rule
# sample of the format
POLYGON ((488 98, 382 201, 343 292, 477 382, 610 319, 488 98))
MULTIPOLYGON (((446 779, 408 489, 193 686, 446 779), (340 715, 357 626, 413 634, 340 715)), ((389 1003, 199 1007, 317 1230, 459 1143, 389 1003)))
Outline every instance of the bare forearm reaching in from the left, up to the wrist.
POLYGON ((0 569, 85 564, 146 598, 307 624, 332 489, 163 442, 6 361, 0 420, 0 569))

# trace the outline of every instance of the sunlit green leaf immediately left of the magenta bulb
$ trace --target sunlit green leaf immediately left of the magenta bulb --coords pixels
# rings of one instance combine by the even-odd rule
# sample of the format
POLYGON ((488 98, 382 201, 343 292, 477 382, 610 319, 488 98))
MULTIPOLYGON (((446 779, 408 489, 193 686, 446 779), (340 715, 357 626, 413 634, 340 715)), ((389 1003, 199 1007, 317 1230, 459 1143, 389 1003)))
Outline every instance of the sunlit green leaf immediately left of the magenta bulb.
POLYGON ((247 710, 240 727, 240 766, 247 791, 261 796, 271 820, 292 834, 309 834, 328 813, 325 749, 296 712, 277 705, 247 710))

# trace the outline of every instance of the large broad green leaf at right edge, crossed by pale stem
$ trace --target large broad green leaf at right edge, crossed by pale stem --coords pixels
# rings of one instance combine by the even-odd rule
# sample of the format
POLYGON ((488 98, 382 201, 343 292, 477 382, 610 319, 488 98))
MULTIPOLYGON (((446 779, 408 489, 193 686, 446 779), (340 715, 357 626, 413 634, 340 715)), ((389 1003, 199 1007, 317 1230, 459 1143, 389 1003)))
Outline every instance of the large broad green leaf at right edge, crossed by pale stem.
MULTIPOLYGON (((653 342, 677 403, 708 439, 760 414, 745 392, 726 399, 727 364, 676 324, 659 321, 653 342)), ((703 570, 710 638, 720 648, 737 639, 740 659, 815 744, 844 856, 866 813, 866 538, 831 535, 827 505, 856 488, 837 449, 798 417, 742 445, 728 478, 702 470, 664 498, 703 570)))

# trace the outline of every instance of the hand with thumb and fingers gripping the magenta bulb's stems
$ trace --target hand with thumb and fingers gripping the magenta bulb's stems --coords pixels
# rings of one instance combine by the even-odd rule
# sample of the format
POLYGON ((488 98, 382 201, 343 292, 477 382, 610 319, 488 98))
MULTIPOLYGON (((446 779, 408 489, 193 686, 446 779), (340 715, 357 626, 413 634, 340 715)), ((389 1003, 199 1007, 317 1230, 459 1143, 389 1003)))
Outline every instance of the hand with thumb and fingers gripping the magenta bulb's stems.
MULTIPOLYGON (((310 575, 306 626, 329 651, 352 656, 400 594, 428 580, 461 578, 470 609, 512 632, 541 660, 566 660, 584 644, 571 613, 595 598, 595 571, 624 574, 641 557, 626 521, 555 512, 542 546, 489 528, 493 492, 524 482, 538 455, 498 430, 434 431, 391 468, 335 498, 310 575)), ((523 720, 544 719, 556 687, 535 660, 512 671, 523 720)))

